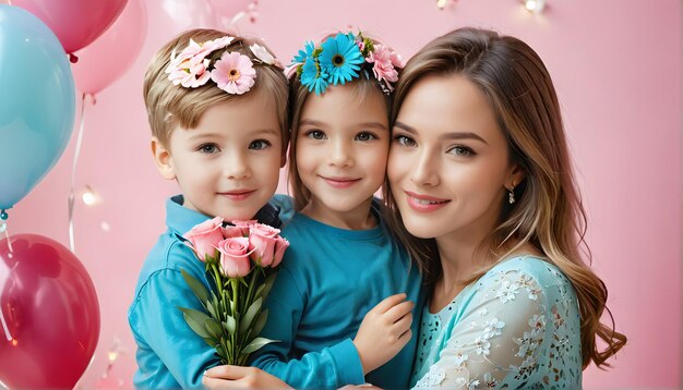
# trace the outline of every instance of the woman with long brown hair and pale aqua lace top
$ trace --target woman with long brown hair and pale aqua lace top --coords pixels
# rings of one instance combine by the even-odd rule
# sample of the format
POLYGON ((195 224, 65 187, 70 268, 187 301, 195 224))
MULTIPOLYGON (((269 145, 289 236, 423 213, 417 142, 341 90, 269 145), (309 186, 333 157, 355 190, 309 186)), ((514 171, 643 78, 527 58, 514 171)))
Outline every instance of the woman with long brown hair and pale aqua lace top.
POLYGON ((432 288, 411 385, 580 388, 590 362, 609 366, 626 338, 600 322, 607 288, 579 254, 585 214, 538 54, 483 29, 436 38, 406 65, 392 122, 392 223, 432 288))

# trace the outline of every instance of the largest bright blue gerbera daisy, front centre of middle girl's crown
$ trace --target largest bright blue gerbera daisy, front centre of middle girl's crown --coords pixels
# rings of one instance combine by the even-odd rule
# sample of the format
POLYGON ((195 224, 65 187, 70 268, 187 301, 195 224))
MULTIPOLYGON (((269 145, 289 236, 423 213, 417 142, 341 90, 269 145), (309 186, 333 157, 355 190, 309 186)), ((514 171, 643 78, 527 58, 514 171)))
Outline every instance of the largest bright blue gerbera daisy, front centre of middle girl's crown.
POLYGON ((363 59, 356 45, 352 34, 337 34, 328 38, 322 46, 320 66, 327 73, 327 81, 332 84, 345 84, 358 77, 363 59))

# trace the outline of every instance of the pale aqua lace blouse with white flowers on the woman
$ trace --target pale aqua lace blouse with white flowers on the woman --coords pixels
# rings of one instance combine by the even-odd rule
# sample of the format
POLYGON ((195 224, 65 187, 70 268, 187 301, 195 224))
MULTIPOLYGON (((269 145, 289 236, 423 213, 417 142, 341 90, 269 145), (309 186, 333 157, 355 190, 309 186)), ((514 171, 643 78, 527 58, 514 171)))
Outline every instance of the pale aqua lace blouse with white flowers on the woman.
POLYGON ((558 268, 507 259, 436 314, 422 310, 416 389, 582 386, 578 301, 558 268))

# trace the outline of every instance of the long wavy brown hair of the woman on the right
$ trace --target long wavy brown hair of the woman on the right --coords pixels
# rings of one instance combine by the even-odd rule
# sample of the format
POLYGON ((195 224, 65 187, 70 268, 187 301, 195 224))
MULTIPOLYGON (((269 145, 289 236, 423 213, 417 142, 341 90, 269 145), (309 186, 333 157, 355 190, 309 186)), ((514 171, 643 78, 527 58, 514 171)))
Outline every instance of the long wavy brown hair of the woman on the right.
MULTIPOLYGON (((432 40, 408 61, 396 86, 391 123, 416 82, 454 74, 465 76, 488 98, 507 139, 512 162, 525 171, 523 183, 514 190, 516 204, 508 205, 501 198, 506 206, 500 222, 478 248, 492 261, 472 279, 525 243, 532 244, 560 268, 576 291, 584 367, 591 361, 598 367, 609 367, 606 361, 624 346, 626 337, 614 330, 614 319, 606 306, 607 287, 582 260, 582 252, 591 259, 584 241, 586 214, 548 70, 540 57, 517 38, 486 29, 456 29, 432 40), (603 310, 611 327, 600 322, 603 310), (607 343, 603 351, 598 350, 596 337, 607 343)), ((426 279, 433 283, 441 276, 435 241, 417 239, 403 228, 388 182, 384 196, 394 211, 390 223, 399 232, 426 279)))

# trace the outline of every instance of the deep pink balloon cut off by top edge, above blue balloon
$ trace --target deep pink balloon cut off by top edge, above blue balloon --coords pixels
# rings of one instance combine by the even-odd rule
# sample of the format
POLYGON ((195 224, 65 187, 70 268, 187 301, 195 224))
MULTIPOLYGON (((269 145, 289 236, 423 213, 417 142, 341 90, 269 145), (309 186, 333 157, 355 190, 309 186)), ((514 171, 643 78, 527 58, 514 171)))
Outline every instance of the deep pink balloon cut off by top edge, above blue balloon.
POLYGON ((119 16, 128 0, 12 0, 38 16, 71 53, 92 44, 119 16))

